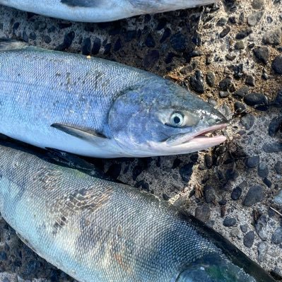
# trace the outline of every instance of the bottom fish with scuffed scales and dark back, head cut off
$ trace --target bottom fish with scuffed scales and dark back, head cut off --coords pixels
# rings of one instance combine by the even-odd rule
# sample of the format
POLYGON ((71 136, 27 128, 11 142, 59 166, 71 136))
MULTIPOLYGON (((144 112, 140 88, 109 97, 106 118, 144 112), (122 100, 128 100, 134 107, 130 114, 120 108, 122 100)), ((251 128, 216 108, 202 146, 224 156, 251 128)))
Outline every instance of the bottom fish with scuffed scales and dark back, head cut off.
POLYGON ((274 281, 221 235, 152 194, 0 145, 1 215, 81 282, 274 281))

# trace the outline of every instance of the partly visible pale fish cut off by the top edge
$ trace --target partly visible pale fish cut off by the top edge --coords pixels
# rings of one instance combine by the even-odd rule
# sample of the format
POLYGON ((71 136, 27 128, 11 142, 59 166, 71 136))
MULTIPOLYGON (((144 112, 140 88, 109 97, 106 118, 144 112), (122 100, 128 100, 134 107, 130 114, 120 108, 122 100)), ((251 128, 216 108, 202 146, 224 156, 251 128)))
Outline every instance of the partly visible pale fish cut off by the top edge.
POLYGON ((52 18, 99 23, 146 13, 212 4, 216 0, 0 0, 0 4, 52 18))

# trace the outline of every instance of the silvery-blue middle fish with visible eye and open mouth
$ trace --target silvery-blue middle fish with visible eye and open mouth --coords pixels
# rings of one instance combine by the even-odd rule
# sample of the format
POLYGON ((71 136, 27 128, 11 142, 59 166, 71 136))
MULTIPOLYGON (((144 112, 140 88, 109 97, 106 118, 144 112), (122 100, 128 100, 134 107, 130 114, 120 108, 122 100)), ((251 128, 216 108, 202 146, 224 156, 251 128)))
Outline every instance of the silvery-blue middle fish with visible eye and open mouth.
POLYGON ((160 76, 104 59, 0 41, 0 133, 101 158, 191 153, 218 145, 211 105, 160 76))

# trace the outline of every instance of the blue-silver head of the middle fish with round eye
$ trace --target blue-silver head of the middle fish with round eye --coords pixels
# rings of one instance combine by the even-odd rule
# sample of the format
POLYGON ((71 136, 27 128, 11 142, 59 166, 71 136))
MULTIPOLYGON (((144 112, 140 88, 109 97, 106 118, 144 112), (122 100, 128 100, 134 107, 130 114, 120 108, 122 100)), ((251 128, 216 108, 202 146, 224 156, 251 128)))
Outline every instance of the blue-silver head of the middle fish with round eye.
POLYGON ((223 129, 226 119, 211 105, 163 78, 129 88, 114 101, 108 124, 127 155, 146 157, 201 151, 225 141, 204 134, 223 129))

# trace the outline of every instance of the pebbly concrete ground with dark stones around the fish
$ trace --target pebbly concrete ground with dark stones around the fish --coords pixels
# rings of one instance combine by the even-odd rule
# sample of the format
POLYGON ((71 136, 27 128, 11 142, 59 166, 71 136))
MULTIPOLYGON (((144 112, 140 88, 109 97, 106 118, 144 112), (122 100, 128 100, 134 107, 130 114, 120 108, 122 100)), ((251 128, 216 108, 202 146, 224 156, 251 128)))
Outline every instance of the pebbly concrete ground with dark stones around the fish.
MULTIPOLYGON (((224 0, 114 23, 0 6, 0 37, 119 61, 172 79, 230 119, 222 146, 174 157, 89 160, 228 237, 282 276, 282 3, 224 0)), ((73 281, 0 221, 0 281, 73 281)))

